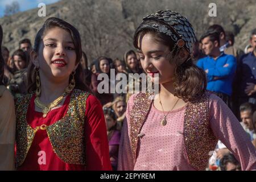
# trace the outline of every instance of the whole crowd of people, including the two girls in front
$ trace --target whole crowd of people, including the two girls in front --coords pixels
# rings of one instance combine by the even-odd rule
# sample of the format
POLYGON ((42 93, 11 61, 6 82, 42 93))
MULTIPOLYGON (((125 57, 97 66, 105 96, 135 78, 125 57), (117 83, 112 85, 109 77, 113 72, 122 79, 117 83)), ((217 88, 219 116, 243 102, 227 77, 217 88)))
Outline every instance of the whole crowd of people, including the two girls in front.
POLYGON ((1 47, 0 169, 256 169, 256 28, 248 42, 241 51, 218 24, 197 39, 184 16, 158 11, 137 28, 137 51, 88 65, 76 28, 47 19, 34 46, 1 47), (98 92, 111 69, 159 73, 158 97, 98 92))

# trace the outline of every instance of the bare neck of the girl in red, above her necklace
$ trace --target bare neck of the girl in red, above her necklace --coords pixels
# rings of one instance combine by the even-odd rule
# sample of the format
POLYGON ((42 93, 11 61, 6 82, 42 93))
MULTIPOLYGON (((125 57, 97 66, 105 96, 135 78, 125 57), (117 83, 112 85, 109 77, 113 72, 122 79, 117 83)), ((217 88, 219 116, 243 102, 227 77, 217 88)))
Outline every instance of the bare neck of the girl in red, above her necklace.
POLYGON ((60 97, 64 93, 65 88, 67 88, 69 84, 68 82, 68 78, 63 81, 55 82, 45 77, 40 77, 40 101, 42 101, 44 104, 49 104, 56 100, 56 98, 60 97))

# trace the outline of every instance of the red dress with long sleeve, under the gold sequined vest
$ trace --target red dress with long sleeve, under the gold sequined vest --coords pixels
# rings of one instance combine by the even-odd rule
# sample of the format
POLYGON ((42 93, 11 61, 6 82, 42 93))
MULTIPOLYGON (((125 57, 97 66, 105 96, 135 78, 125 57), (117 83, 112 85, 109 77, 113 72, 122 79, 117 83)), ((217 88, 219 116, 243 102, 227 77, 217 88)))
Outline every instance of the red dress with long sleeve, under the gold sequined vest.
MULTIPOLYGON (((71 94, 67 96, 63 106, 49 111, 47 117, 43 118, 43 113, 35 111, 35 95, 32 96, 27 110, 28 125, 34 129, 36 126, 49 126, 59 121, 67 113, 70 100, 71 94)), ((104 113, 100 102, 92 95, 89 95, 86 100, 84 125, 86 167, 63 162, 53 151, 47 131, 38 130, 26 159, 18 170, 112 170, 104 113)))

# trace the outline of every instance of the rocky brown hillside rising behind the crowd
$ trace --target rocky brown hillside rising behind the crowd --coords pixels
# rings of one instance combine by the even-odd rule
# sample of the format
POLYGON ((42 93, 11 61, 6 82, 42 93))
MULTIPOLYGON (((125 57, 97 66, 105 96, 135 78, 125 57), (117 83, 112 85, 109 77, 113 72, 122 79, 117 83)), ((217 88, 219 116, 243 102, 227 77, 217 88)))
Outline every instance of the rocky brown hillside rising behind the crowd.
POLYGON ((127 49, 133 48, 133 33, 142 17, 161 9, 187 16, 198 38, 209 25, 221 24, 234 32, 236 46, 241 49, 248 44, 250 31, 256 28, 255 0, 63 0, 47 5, 46 17, 39 17, 39 9, 33 9, 1 18, 3 44, 13 52, 20 39, 34 41, 43 22, 56 16, 79 29, 89 61, 103 55, 122 58, 127 49), (210 2, 217 5, 216 17, 208 15, 210 2))

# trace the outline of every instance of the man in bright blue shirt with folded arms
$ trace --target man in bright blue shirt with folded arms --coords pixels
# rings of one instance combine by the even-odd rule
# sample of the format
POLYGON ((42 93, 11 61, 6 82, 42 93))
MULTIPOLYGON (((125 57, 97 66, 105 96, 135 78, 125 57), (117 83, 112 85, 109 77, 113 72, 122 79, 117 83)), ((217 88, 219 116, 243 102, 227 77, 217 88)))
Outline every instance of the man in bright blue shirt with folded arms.
POLYGON ((230 96, 237 67, 236 57, 220 52, 220 40, 216 32, 205 33, 200 42, 207 56, 197 61, 197 66, 207 73, 207 90, 217 94, 231 107, 230 96))

